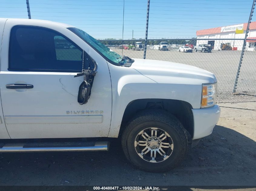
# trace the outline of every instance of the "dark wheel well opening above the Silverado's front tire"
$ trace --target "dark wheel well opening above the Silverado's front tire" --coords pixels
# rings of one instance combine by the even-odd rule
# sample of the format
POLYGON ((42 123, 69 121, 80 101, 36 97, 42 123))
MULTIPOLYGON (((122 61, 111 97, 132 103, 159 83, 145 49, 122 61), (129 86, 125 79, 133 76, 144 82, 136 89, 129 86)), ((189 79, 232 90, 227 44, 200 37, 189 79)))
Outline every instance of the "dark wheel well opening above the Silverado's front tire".
POLYGON ((135 116, 138 112, 142 110, 153 108, 168 111, 169 113, 176 116, 180 120, 184 128, 189 132, 191 137, 193 137, 194 117, 191 110, 191 104, 186 101, 172 99, 138 99, 128 103, 122 117, 118 137, 122 135, 122 132, 124 131, 127 122, 133 116, 135 116))

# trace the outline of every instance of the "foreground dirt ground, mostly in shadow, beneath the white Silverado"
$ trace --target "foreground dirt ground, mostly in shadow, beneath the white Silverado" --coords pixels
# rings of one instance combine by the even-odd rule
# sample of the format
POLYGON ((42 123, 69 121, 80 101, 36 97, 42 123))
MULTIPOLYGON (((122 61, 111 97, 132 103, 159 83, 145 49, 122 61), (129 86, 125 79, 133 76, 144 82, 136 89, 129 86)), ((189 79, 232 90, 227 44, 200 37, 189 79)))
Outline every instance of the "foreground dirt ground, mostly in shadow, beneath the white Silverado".
POLYGON ((108 152, 2 153, 0 185, 256 186, 256 102, 220 106, 212 135, 169 172, 134 168, 113 139, 108 152))

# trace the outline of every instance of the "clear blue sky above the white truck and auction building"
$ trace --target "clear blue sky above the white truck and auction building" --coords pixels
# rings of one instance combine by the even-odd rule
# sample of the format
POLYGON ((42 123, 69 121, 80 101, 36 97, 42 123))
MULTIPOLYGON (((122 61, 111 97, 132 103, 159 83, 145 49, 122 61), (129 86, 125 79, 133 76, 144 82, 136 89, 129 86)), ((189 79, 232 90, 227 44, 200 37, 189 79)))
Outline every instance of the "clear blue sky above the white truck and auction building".
MULTIPOLYGON (((28 18, 25 0, 1 0, 0 17, 28 18)), ((151 0, 148 38, 248 22, 252 0, 151 0)), ((122 38, 123 0, 29 0, 32 19, 71 24, 97 39, 122 38)), ((124 39, 145 38, 147 0, 125 0, 124 39)), ((256 17, 255 17, 256 18, 256 17)), ((253 21, 256 20, 253 18, 253 21)))

